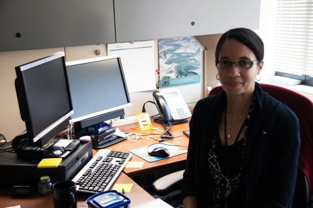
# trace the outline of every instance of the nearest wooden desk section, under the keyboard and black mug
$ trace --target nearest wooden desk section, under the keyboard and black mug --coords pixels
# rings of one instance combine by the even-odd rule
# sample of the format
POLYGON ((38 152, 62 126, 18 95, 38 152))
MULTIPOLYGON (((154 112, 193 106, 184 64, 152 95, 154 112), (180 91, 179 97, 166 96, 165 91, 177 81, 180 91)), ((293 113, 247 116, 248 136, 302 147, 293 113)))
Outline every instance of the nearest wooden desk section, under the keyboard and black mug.
MULTIPOLYGON (((153 200, 154 197, 151 196, 142 187, 134 183, 134 181, 129 178, 125 173, 121 173, 115 183, 118 184, 134 184, 131 192, 125 193, 127 197, 131 199, 131 206, 148 202, 153 200)), ((114 186, 114 185, 113 185, 114 186)), ((92 194, 77 193, 77 207, 87 208, 86 200, 92 194)), ((21 208, 53 208, 53 194, 40 195, 38 193, 33 194, 29 197, 12 197, 10 195, 9 189, 0 189, 0 207, 12 207, 21 205, 21 208)))

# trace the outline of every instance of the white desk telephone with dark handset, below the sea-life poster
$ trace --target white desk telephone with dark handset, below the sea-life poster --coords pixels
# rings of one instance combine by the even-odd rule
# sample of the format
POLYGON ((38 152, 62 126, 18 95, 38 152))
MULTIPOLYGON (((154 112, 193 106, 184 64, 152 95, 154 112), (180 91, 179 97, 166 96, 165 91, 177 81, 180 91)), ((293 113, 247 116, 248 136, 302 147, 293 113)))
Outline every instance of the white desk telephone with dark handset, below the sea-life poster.
POLYGON ((190 110, 177 88, 154 91, 152 95, 156 108, 165 123, 191 117, 190 110))

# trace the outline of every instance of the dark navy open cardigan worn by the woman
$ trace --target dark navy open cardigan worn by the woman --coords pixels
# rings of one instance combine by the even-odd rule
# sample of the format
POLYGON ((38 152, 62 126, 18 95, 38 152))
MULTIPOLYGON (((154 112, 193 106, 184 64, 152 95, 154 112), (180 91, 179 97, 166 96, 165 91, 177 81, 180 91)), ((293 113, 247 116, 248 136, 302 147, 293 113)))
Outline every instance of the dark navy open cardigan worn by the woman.
MULTIPOLYGON (((289 208, 300 148, 298 119, 285 105, 255 83, 255 102, 246 133, 240 201, 247 208, 289 208)), ((198 207, 212 207, 208 164, 224 109, 225 92, 201 99, 190 120, 190 141, 182 180, 182 198, 197 196, 198 207)), ((232 205, 236 207, 236 205, 232 205)))

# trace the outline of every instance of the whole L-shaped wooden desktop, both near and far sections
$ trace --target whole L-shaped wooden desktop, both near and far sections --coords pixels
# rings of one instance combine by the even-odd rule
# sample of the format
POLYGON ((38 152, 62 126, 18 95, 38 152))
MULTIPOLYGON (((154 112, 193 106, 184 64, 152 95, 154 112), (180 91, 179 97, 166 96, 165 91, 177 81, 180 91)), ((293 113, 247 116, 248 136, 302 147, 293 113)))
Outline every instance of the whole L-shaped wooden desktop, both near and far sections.
MULTIPOLYGON (((163 126, 152 122, 154 127, 157 127, 163 130, 163 126)), ((131 129, 132 126, 136 126, 138 124, 129 124, 118 126, 118 128, 125 132, 138 132, 135 129, 131 129)), ((174 134, 175 137, 183 136, 182 131, 188 130, 188 123, 173 125, 171 129, 171 133, 174 134)), ((172 140, 168 140, 167 142, 174 145, 188 146, 188 140, 184 137, 178 137, 172 140)), ((109 146, 108 149, 117 150, 117 151, 125 151, 129 152, 130 149, 148 146, 153 143, 157 143, 157 141, 147 141, 145 139, 140 139, 136 142, 131 141, 123 141, 121 143, 115 144, 113 146, 109 146)), ((187 147, 182 147, 187 149, 187 147)), ((93 155, 96 153, 96 150, 93 150, 93 155)), ((142 168, 124 168, 123 172, 118 176, 115 183, 118 184, 134 184, 130 193, 126 193, 126 196, 131 199, 131 206, 136 206, 147 201, 153 200, 154 197, 151 196, 147 191, 145 191, 142 187, 136 184, 130 177, 144 175, 147 173, 152 173, 158 170, 163 170, 167 168, 172 168, 176 166, 182 166, 185 164, 187 154, 182 154, 170 158, 166 158, 160 161, 156 161, 153 163, 149 163, 140 157, 133 155, 130 161, 144 161, 144 165, 142 168)), ((114 186, 114 185, 113 185, 114 186)), ((85 201, 91 195, 83 195, 82 193, 77 193, 77 207, 88 207, 85 201)), ((0 189, 0 207, 12 207, 16 205, 21 205, 21 208, 51 208, 53 207, 53 194, 49 195, 39 195, 38 193, 33 194, 30 197, 11 197, 8 189, 0 189)))

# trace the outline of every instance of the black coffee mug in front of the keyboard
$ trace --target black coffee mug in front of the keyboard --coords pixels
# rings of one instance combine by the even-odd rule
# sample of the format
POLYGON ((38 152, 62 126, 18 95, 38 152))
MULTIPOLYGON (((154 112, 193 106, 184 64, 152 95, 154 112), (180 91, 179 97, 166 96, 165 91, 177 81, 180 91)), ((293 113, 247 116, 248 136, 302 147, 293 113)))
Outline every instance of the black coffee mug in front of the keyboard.
POLYGON ((76 208, 76 184, 73 181, 59 181, 53 184, 54 208, 76 208))

